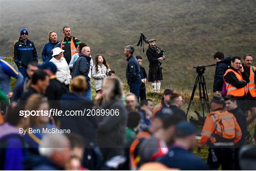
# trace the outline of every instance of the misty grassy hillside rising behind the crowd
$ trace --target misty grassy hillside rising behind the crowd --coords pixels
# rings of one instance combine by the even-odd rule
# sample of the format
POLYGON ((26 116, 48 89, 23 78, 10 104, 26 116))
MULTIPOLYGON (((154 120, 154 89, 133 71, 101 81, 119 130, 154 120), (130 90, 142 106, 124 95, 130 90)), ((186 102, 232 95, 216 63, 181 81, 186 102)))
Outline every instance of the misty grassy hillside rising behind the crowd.
MULTIPOLYGON (((255 0, 1 1, 0 55, 11 56, 19 30, 27 27, 41 58, 48 32, 56 30, 61 40, 68 25, 93 57, 102 53, 125 80, 124 46, 136 46, 143 32, 166 50, 163 83, 192 87, 193 66, 213 64, 216 51, 226 57, 255 55, 255 7, 255 0)), ((148 71, 142 48, 136 47, 135 55, 145 57, 148 71)), ((210 88, 214 69, 205 73, 210 88)))

